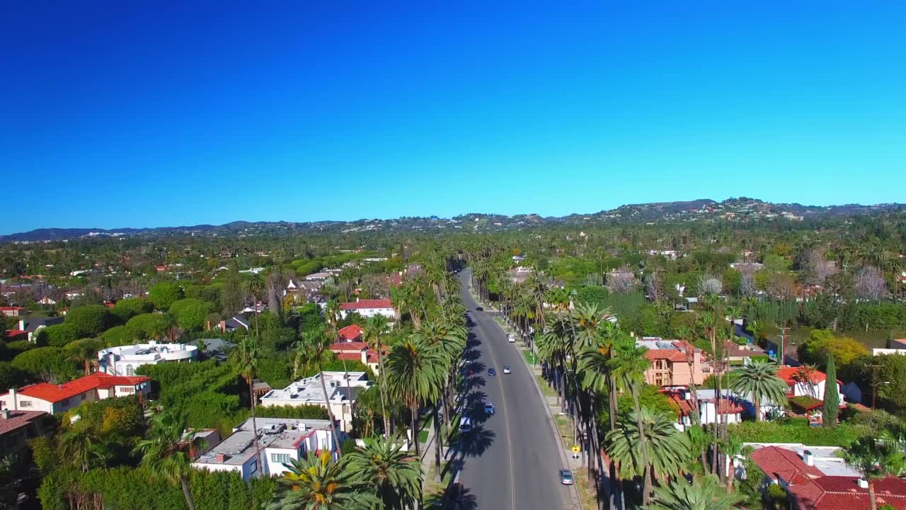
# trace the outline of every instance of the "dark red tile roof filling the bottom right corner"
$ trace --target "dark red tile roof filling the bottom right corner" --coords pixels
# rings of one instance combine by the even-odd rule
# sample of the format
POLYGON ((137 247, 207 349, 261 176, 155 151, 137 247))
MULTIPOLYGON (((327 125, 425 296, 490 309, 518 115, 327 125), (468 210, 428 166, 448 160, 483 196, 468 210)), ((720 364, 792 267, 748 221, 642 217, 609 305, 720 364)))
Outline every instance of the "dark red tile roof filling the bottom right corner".
MULTIPOLYGON (((867 510, 871 507, 868 489, 859 486, 856 476, 821 476, 789 487, 799 510, 867 510)), ((889 476, 874 482, 878 506, 906 509, 906 481, 889 476)))

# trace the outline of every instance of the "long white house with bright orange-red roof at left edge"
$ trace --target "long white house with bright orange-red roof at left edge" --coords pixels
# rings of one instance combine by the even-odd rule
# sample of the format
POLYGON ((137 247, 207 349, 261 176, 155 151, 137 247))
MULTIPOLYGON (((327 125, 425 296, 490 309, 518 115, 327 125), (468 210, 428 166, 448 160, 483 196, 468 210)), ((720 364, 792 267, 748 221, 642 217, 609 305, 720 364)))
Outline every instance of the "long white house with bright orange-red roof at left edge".
POLYGON ((58 414, 110 397, 125 397, 150 393, 150 378, 111 376, 97 372, 60 385, 37 383, 10 390, 0 395, 0 407, 13 410, 35 410, 58 414))

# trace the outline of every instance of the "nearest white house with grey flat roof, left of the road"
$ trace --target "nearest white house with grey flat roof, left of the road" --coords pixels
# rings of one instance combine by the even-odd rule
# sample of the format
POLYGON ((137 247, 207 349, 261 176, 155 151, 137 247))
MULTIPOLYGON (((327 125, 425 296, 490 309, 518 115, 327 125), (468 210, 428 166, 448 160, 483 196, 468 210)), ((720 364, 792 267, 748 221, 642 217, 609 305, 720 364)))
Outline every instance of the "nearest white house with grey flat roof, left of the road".
MULTIPOLYGON (((234 471, 248 481, 253 476, 280 476, 287 465, 308 452, 336 451, 346 438, 333 437, 331 422, 323 419, 252 418, 233 429, 233 434, 192 462, 196 469, 234 471), (255 436, 261 450, 261 470, 255 462, 255 436)), ((335 455, 335 454, 334 454, 335 455)))

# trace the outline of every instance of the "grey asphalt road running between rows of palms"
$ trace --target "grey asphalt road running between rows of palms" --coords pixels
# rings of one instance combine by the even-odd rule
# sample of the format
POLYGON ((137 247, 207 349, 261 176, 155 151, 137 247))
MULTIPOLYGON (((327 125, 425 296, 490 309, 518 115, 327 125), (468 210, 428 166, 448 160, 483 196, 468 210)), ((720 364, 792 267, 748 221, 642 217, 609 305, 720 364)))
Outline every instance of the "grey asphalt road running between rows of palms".
POLYGON ((464 496, 460 508, 496 510, 557 510, 572 508, 568 489, 560 484, 557 437, 545 416, 534 377, 520 360, 522 353, 506 341, 493 314, 478 311, 469 294, 468 270, 462 271, 462 299, 470 330, 466 351, 468 392, 464 412, 470 410, 473 430, 463 435, 451 455, 461 464, 459 482, 464 496), (504 366, 512 374, 504 374, 504 366), (496 377, 487 376, 496 368, 496 377), (487 417, 484 402, 496 414, 487 417))

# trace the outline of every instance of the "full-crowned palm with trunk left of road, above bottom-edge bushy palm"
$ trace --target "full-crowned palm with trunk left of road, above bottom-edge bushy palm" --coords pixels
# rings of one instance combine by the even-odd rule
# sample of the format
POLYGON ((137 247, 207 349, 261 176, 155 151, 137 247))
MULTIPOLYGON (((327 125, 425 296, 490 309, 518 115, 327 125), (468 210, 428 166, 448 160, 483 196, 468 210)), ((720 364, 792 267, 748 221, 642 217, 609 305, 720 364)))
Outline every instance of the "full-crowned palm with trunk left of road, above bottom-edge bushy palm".
POLYGON ((394 346, 387 357, 388 389, 410 409, 416 455, 420 454, 419 404, 433 402, 440 396, 445 374, 438 350, 412 339, 394 346))

